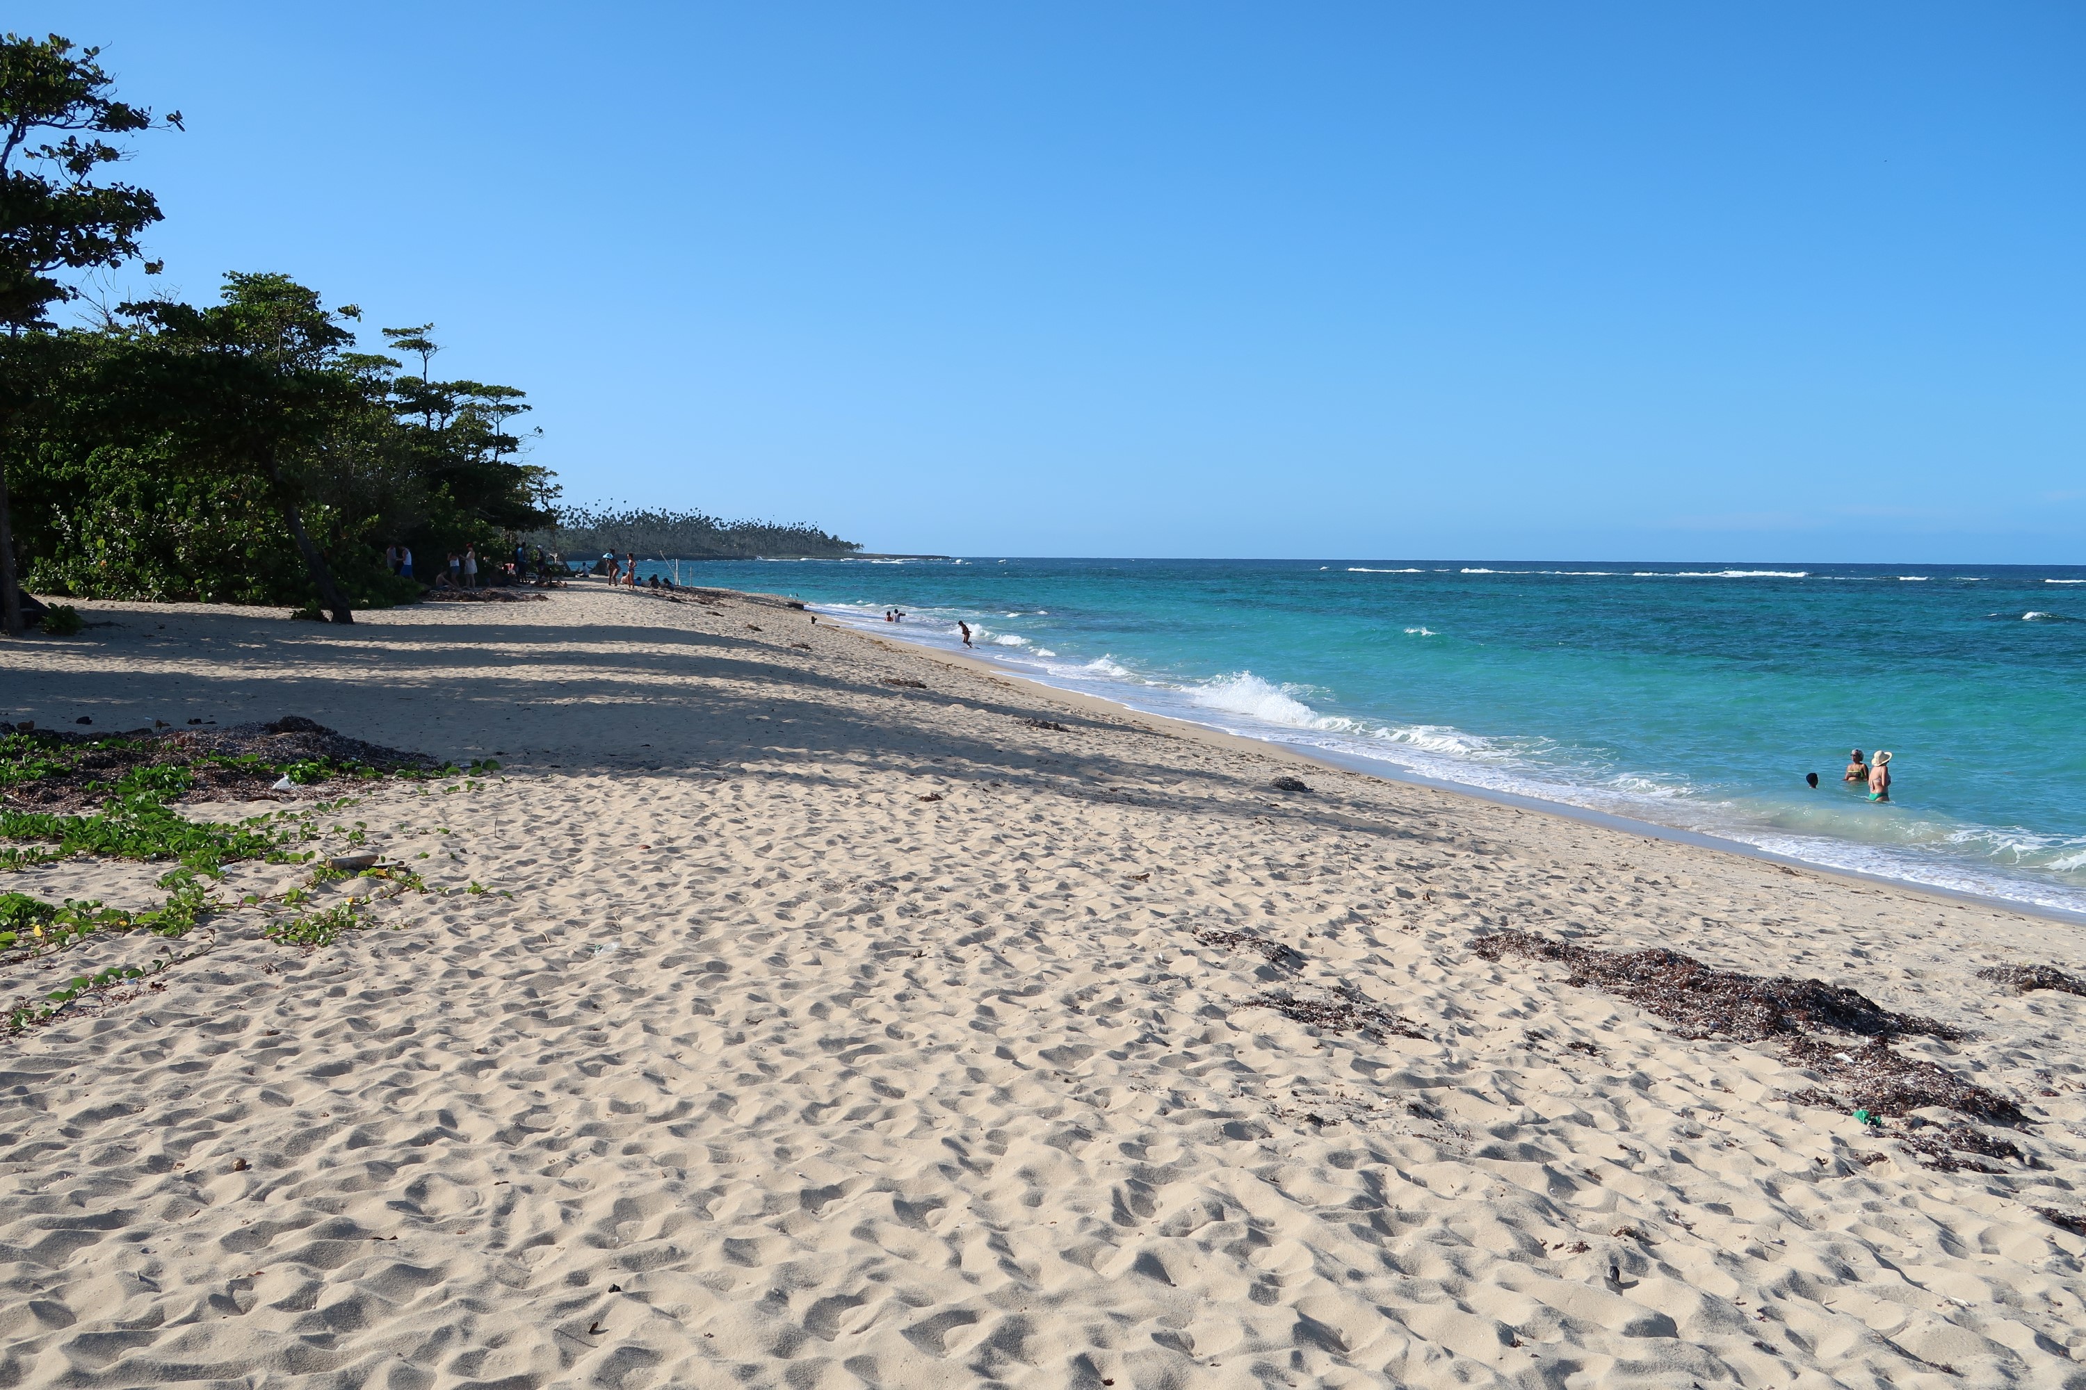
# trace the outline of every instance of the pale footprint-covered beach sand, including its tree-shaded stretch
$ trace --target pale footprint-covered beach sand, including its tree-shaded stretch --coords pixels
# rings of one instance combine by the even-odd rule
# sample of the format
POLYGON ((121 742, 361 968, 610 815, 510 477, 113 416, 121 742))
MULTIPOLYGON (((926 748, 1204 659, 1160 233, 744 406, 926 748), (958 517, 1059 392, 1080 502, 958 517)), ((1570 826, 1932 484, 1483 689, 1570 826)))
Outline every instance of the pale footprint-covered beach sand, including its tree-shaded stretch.
POLYGON ((83 609, 0 719, 505 767, 313 821, 436 892, 315 950, 221 913, 0 1040, 0 1384, 2086 1386, 2086 998, 1978 977, 2086 973, 2078 927, 772 600, 83 609), (1585 954, 1648 946, 1873 1007, 1585 954), (1877 1067, 2000 1109, 1873 1130, 1877 1067))

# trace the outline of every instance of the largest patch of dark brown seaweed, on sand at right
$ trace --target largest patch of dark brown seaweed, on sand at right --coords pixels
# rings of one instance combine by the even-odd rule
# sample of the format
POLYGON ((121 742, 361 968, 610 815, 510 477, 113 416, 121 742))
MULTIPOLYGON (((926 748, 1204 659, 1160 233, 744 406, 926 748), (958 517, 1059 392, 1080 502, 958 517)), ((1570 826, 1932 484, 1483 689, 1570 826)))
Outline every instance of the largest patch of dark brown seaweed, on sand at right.
POLYGON ((1494 932, 1475 938, 1471 946, 1487 961, 1517 954, 1569 965, 1569 984, 1619 994, 1679 1025, 1688 1038, 1721 1034, 1740 1042, 1779 1040, 1796 1063, 1813 1067, 1834 1086, 1834 1092, 1806 1090, 1790 1096, 1804 1104, 1865 1109, 1875 1115, 1905 1115, 1932 1104, 2003 1125, 2026 1119, 2007 1096, 1890 1048, 1890 1040, 1898 1036, 1959 1040, 1963 1029, 1892 1013, 1844 986, 1717 969, 1663 946, 1590 950, 1533 932, 1494 932), (1869 1042, 1827 1042, 1811 1029, 1852 1034, 1869 1042))

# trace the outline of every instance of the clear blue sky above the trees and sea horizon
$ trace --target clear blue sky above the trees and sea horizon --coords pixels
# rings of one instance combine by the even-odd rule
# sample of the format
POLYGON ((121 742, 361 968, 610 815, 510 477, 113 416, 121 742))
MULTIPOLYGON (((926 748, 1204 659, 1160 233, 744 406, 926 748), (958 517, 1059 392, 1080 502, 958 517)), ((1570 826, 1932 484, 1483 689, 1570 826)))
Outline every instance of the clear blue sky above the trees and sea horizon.
POLYGON ((40 4, 167 279, 880 550, 2086 563, 2078 4, 40 4))

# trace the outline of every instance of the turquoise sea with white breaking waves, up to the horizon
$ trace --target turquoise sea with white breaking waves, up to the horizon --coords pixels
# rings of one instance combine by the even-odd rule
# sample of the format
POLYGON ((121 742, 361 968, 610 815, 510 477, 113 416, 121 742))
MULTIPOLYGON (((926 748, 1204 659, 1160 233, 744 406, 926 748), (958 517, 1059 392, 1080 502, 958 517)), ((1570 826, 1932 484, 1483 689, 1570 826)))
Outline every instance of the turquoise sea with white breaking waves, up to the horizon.
MULTIPOLYGON (((657 569, 670 569, 659 565, 657 569)), ((1254 738, 2086 911, 2086 569, 682 565, 1254 738), (1894 802, 1840 784, 1890 748, 1894 802), (1804 773, 1819 773, 1819 790, 1804 773)))

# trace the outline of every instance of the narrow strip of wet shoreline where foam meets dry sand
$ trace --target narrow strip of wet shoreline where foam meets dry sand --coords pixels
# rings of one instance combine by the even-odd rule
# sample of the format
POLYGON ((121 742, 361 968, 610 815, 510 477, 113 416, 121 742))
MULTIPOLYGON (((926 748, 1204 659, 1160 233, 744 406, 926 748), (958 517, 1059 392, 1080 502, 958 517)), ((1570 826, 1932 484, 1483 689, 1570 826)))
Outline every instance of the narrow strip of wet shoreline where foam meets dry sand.
MULTIPOLYGON (((732 592, 753 596, 749 590, 732 590, 732 592)), ((780 602, 797 602, 797 600, 780 598, 776 594, 763 594, 763 598, 776 598, 780 602)), ((830 621, 834 621, 834 627, 839 627, 843 631, 855 631, 855 634, 862 634, 866 638, 887 636, 887 634, 880 634, 880 631, 876 631, 874 627, 868 627, 868 625, 855 625, 855 623, 849 623, 849 621, 832 619, 830 613, 822 613, 822 617, 828 617, 830 621)), ((901 627, 901 625, 895 625, 895 627, 901 627)), ((1752 859, 1752 861, 1761 861, 1761 863, 1784 865, 1784 867, 1790 867, 1790 869, 1802 869, 1804 873, 1817 873, 1817 875, 1823 875, 1823 877, 1836 877, 1836 879, 1844 879, 1848 884, 1875 884, 1875 886, 1884 886, 1884 888, 1894 888, 1894 890, 1902 890, 1902 892, 1911 892, 1911 894, 1936 898, 1940 902, 1963 902, 1963 904, 1975 904, 1975 907, 1986 907, 1986 909, 1996 909, 1996 911, 2021 913, 2026 917, 2040 917, 2044 921, 2059 921, 2059 923, 2065 923, 2065 925, 2086 925, 2086 913, 2082 913, 2082 911, 2071 911, 2071 909, 2063 909, 2063 907, 2051 907, 2051 904, 2044 904, 2044 902, 2028 902, 2028 900, 2021 900, 2021 898, 2003 898, 1998 894, 1982 894, 1982 892, 1971 892, 1967 888, 1948 888, 1948 886, 1942 886, 1942 884, 1921 884, 1917 879, 1900 879, 1900 877, 1892 877, 1888 873, 1865 873, 1861 869, 1842 869, 1842 867, 1836 867, 1836 865, 1821 865, 1821 863, 1815 863, 1815 861, 1809 861, 1809 859, 1798 859, 1794 854, 1777 854, 1773 850, 1765 850, 1761 846, 1746 844, 1744 840, 1731 840, 1731 838, 1713 836, 1713 834, 1706 834, 1706 831, 1683 829, 1679 825, 1660 825, 1658 821, 1640 821, 1635 817, 1615 815, 1610 811, 1596 811, 1592 806, 1575 806, 1571 802, 1548 800, 1548 798, 1542 798, 1542 796, 1525 796, 1525 794, 1519 794, 1519 792, 1496 792, 1491 788, 1466 786, 1466 784, 1460 784, 1460 781, 1446 781, 1446 779, 1439 779, 1439 777, 1425 777, 1421 773, 1402 769, 1396 763, 1385 763, 1385 761, 1377 761, 1377 759, 1364 759, 1364 756, 1358 756, 1358 754, 1356 756, 1343 756, 1343 754, 1333 752, 1329 748, 1308 748, 1308 746, 1300 746, 1300 744, 1285 744, 1285 742, 1277 742, 1277 740, 1262 740, 1262 738, 1254 738, 1250 734, 1233 734, 1231 729, 1222 729, 1222 727, 1216 727, 1216 725, 1197 723, 1193 719, 1181 719, 1179 715, 1158 715, 1154 711, 1137 709, 1135 704, 1129 704, 1124 700, 1110 700, 1108 696, 1089 694, 1085 690, 1066 690, 1064 686, 1053 686, 1047 679, 1037 677, 1030 671, 1022 671, 1018 667, 999 665, 991 656, 985 656, 985 654, 951 652, 947 648, 930 646, 926 642, 912 642, 909 638, 905 638, 901 634, 891 634, 891 636, 897 642, 903 642, 907 650, 920 652, 922 656, 930 656, 935 661, 945 661, 949 665, 962 665, 962 667, 968 667, 968 669, 989 671, 993 675, 1001 675, 1001 677, 1008 677, 1008 679, 1020 679, 1020 681, 1026 681, 1028 686, 1035 686, 1037 690, 1047 690, 1049 694, 1053 694, 1058 698, 1091 700, 1095 706, 1110 709, 1110 711, 1122 711, 1122 713, 1135 715, 1137 719, 1154 719, 1154 721, 1170 725, 1174 729, 1183 729, 1183 731, 1191 729, 1195 734, 1210 736, 1210 738, 1235 740, 1237 744, 1243 744, 1243 746, 1250 746, 1250 748, 1256 748, 1256 750, 1262 750, 1262 752, 1277 750, 1277 752, 1283 752, 1283 754, 1287 754, 1287 756, 1291 756, 1297 763, 1308 765, 1308 767, 1331 767, 1331 769, 1339 769, 1339 771, 1360 773, 1364 777, 1379 777, 1383 781, 1391 781, 1391 784, 1398 784, 1398 786, 1431 788, 1435 792, 1448 792, 1452 796, 1469 796, 1471 800, 1481 800, 1481 802, 1489 802, 1489 804, 1496 804, 1496 806, 1514 806, 1514 809, 1521 809, 1521 811, 1535 811, 1539 815, 1554 815, 1554 817, 1560 817, 1560 819, 1567 819, 1567 821, 1579 821, 1583 825, 1600 825, 1600 827, 1615 829, 1615 831, 1621 831, 1621 834, 1627 834, 1627 836, 1644 836, 1648 840, 1663 840, 1663 842, 1669 842, 1669 844, 1688 844, 1688 846, 1694 846, 1694 848, 1715 850, 1719 854, 1733 854, 1738 859, 1752 859)))

